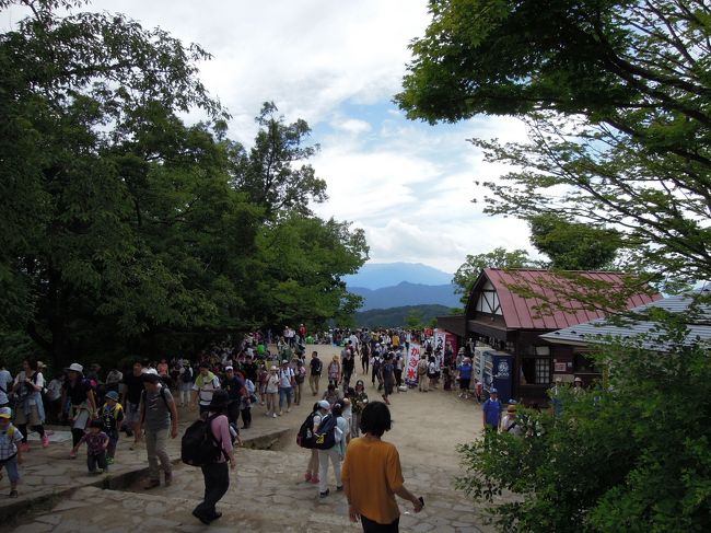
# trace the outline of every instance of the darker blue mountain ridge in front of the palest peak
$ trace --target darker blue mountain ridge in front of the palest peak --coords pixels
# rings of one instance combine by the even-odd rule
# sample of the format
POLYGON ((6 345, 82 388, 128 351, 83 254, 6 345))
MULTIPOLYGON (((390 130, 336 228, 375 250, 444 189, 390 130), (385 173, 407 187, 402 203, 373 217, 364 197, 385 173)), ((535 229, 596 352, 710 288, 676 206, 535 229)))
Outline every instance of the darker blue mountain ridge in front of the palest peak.
POLYGON ((349 287, 348 290, 363 298, 360 311, 423 304, 444 305, 447 309, 462 305, 459 296, 454 292, 455 286, 451 283, 422 285, 401 281, 394 287, 376 290, 364 287, 349 287))

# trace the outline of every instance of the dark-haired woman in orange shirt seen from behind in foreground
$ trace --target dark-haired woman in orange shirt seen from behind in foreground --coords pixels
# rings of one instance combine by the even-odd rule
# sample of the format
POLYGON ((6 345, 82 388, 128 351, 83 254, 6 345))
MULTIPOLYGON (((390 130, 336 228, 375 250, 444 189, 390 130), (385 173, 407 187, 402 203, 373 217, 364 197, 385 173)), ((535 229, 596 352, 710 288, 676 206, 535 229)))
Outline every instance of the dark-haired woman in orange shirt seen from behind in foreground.
POLYGON ((363 531, 397 532, 400 511, 395 495, 412 502, 415 512, 423 507, 405 488, 400 456, 394 444, 381 440, 392 426, 391 410, 382 402, 368 404, 361 413, 363 437, 348 444, 341 473, 351 522, 360 518, 363 531))

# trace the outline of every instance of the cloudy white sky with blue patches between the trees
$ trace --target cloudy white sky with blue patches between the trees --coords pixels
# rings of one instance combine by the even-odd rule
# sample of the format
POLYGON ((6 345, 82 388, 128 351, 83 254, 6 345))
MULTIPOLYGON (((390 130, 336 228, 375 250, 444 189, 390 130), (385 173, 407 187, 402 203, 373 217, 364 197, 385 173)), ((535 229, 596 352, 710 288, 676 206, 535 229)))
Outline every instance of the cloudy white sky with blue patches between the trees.
MULTIPOLYGON (((505 167, 467 139, 524 140, 511 118, 430 126, 405 118, 400 91, 408 44, 429 23, 424 0, 98 0, 83 10, 123 12, 198 43, 211 61, 200 79, 232 115, 229 136, 249 147, 254 117, 273 101, 305 119, 320 151, 311 161, 329 199, 322 218, 362 228, 374 263, 423 263, 454 273, 467 254, 531 250, 520 220, 483 215, 485 190, 505 167)), ((3 13, 7 28, 18 13, 3 13)))

